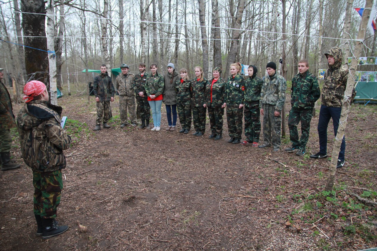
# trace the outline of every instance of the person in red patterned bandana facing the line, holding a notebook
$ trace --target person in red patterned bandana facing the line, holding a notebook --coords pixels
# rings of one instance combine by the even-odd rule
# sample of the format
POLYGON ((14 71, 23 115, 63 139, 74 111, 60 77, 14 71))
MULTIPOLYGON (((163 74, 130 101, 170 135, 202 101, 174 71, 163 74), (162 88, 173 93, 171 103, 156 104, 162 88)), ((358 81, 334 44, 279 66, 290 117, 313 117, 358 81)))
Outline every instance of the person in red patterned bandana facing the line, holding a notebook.
POLYGON ((24 94, 26 101, 18 113, 17 130, 22 158, 33 172, 37 236, 48 239, 68 229, 58 226, 55 218, 63 189, 61 170, 66 167, 63 150, 69 148, 71 138, 60 125, 63 109, 48 102, 42 82, 26 83, 24 94))

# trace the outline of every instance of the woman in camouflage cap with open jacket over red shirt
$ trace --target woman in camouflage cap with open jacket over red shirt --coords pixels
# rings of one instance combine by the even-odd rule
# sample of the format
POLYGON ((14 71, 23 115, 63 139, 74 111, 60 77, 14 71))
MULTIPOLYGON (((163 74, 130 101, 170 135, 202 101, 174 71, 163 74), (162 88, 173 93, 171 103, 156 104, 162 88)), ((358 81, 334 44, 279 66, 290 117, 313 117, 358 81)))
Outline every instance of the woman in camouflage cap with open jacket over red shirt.
POLYGON ((212 132, 208 138, 215 140, 222 138, 222 117, 224 116, 226 83, 220 78, 221 72, 220 67, 213 69, 213 78, 209 81, 210 84, 207 86, 207 89, 205 89, 205 96, 207 97, 205 107, 208 108, 212 132))

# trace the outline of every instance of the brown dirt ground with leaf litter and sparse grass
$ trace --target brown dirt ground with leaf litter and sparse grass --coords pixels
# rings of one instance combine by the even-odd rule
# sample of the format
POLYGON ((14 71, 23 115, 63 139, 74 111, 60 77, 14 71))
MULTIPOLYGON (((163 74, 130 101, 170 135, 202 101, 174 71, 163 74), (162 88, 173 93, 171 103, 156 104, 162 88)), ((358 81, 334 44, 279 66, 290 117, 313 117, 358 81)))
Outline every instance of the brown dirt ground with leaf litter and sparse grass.
MULTIPOLYGON (((288 95, 287 95, 288 97, 288 95)), ((95 101, 58 99, 68 116, 72 146, 65 151, 60 225, 48 240, 35 236, 31 170, 16 131, 12 156, 21 168, 0 173, 1 250, 359 250, 377 246, 377 107, 355 104, 346 128, 346 165, 333 194, 324 192, 330 160, 319 148, 318 117, 305 156, 227 143, 224 137, 121 129, 118 98, 110 129, 93 132, 95 101), (79 224, 87 227, 79 231, 79 224)), ((15 114, 20 105, 15 105, 15 114)), ((287 103, 286 110, 289 111, 287 103)), ((318 114, 318 113, 317 113, 318 114)), ((286 118, 287 119, 287 118, 286 118)), ((179 121, 179 120, 178 120, 179 121)), ((331 124, 330 124, 331 125, 331 124)), ((178 129, 181 129, 177 122, 178 129)), ((332 126, 331 126, 332 127, 332 126)), ((193 131, 193 130, 192 130, 193 131)), ((191 131, 191 132, 192 132, 191 131)), ((329 127, 328 153, 333 130, 329 127)), ((262 142, 263 136, 261 133, 262 142)))

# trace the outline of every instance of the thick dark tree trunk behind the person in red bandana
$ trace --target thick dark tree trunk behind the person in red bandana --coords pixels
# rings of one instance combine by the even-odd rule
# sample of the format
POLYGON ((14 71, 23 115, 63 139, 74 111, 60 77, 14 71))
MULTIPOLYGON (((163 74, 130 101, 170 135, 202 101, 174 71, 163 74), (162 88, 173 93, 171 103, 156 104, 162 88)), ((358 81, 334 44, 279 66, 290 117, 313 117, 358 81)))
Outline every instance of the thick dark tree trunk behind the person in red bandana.
POLYGON ((46 8, 43 0, 21 0, 22 30, 25 47, 25 69, 29 80, 47 83, 47 39, 44 27, 46 8), (28 14, 35 13, 35 14, 28 14), (31 47, 31 48, 30 48, 31 47), (36 48, 36 49, 34 49, 36 48))

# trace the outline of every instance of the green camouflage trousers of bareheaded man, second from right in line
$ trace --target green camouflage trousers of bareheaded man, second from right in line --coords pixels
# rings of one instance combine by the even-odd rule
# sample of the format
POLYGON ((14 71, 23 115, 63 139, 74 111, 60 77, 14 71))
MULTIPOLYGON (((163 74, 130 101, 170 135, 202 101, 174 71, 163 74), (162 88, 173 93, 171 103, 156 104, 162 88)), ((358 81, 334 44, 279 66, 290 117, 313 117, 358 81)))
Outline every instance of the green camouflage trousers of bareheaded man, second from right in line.
POLYGON ((291 109, 288 117, 289 135, 293 147, 305 150, 309 139, 310 121, 313 116, 313 109, 294 110, 291 109), (301 138, 297 132, 297 125, 301 122, 301 138))

